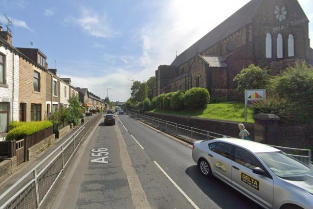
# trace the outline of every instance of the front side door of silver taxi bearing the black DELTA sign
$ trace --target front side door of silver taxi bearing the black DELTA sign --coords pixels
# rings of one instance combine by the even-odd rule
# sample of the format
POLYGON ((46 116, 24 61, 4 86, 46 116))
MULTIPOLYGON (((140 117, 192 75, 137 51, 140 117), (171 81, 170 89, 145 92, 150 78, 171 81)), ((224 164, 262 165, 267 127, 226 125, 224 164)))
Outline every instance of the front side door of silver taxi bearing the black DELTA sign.
POLYGON ((248 150, 235 146, 235 159, 232 162, 232 184, 253 200, 265 207, 273 204, 273 179, 262 163, 248 150), (260 167, 266 175, 253 173, 252 169, 260 167))

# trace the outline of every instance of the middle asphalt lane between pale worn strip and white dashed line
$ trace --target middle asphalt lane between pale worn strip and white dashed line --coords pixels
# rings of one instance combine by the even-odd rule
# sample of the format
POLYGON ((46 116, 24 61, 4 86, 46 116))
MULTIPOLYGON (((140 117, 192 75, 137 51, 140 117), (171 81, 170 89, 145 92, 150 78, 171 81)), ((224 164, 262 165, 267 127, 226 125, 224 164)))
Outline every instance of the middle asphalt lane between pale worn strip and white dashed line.
POLYGON ((192 209, 192 205, 167 179, 153 162, 153 159, 131 137, 116 118, 122 136, 127 145, 128 153, 133 162, 134 169, 145 191, 151 208, 153 209, 192 209))

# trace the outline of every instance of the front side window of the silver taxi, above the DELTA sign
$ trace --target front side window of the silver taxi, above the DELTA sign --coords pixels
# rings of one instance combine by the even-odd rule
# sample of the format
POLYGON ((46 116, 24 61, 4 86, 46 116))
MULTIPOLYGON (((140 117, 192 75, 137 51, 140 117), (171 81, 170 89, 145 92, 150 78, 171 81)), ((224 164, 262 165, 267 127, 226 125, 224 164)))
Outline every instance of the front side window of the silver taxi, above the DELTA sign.
POLYGON ((254 157, 250 152, 240 147, 235 148, 235 162, 246 166, 247 168, 253 169, 260 167, 265 171, 264 166, 254 157))

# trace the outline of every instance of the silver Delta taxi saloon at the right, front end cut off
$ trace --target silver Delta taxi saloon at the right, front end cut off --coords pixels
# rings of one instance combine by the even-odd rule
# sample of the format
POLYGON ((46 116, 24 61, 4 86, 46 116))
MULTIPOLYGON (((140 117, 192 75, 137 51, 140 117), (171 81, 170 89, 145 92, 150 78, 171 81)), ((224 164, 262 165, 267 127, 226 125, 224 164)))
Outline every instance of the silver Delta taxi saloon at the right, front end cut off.
POLYGON ((271 146, 242 139, 196 141, 192 158, 264 208, 313 209, 313 170, 271 146))

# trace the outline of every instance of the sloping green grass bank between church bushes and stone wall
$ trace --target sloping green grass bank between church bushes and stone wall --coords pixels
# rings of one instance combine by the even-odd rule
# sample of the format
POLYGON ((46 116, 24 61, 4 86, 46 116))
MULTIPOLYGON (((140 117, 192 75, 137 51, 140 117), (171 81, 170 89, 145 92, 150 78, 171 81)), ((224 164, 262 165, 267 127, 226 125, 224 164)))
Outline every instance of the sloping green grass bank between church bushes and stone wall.
MULTIPOLYGON (((206 105, 205 108, 201 108, 197 110, 159 111, 157 109, 154 109, 150 112, 166 113, 166 114, 182 115, 182 116, 197 116, 197 117, 206 117, 206 118, 213 118, 213 119, 223 119, 223 120, 245 122, 245 105, 244 103, 238 103, 238 102, 223 102, 223 103, 208 104, 206 105)), ((248 116, 247 116, 246 122, 253 123, 254 119, 253 119, 252 109, 248 108, 247 113, 248 113, 248 116)))

